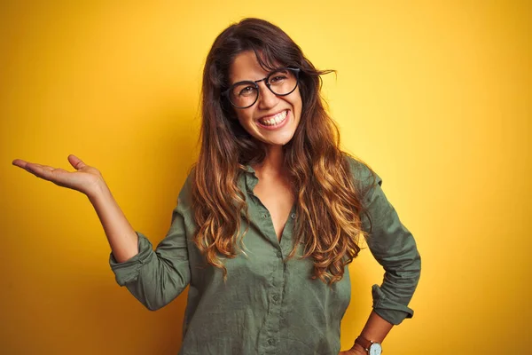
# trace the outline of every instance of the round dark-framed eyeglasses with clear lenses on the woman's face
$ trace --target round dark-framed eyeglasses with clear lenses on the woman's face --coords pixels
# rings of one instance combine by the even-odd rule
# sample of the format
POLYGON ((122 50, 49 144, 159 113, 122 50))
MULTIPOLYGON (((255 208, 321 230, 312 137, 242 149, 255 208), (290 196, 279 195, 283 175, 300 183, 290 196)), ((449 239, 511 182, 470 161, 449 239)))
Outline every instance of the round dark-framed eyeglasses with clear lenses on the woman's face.
POLYGON ((259 99, 258 83, 264 82, 268 89, 277 96, 286 96, 297 88, 299 73, 300 69, 297 67, 282 67, 261 80, 233 83, 229 89, 222 92, 222 95, 229 99, 232 106, 247 108, 254 106, 259 99))

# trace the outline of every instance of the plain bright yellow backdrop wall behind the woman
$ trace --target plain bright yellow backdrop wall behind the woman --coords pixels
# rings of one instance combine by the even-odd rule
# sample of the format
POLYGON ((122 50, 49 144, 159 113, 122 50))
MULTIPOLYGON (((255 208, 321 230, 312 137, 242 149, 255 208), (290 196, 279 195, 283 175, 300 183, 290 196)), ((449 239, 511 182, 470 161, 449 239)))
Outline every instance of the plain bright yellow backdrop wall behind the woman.
MULTIPOLYGON (((519 1, 2 2, 0 351, 176 354, 186 291, 147 311, 114 281, 88 199, 11 165, 106 177, 137 231, 168 231, 197 154, 215 36, 262 17, 325 77, 342 144, 383 178, 423 271, 385 353, 530 350, 532 6, 519 1), (528 350, 527 350, 528 349, 528 350)), ((350 265, 347 350, 382 270, 350 265)), ((206 325, 208 327, 208 325, 206 325)))

